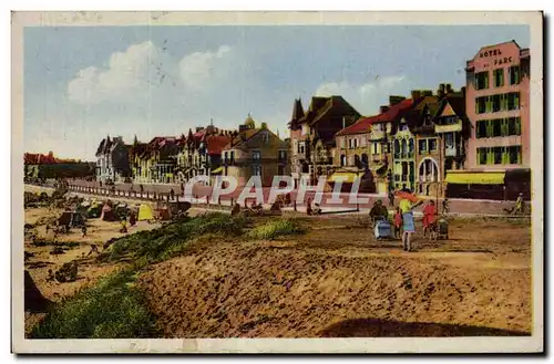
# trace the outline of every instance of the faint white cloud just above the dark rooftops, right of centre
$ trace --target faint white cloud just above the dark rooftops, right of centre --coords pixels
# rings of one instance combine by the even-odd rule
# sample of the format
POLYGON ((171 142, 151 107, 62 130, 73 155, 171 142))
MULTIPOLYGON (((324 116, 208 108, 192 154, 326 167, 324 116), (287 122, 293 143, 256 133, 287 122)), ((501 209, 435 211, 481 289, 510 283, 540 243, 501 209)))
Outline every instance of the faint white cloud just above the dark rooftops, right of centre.
POLYGON ((403 75, 396 75, 376 77, 375 81, 363 84, 352 84, 347 81, 325 83, 316 90, 315 95, 341 95, 358 112, 373 115, 378 113, 380 105, 388 103, 389 95, 407 95, 409 92, 409 80, 403 75))

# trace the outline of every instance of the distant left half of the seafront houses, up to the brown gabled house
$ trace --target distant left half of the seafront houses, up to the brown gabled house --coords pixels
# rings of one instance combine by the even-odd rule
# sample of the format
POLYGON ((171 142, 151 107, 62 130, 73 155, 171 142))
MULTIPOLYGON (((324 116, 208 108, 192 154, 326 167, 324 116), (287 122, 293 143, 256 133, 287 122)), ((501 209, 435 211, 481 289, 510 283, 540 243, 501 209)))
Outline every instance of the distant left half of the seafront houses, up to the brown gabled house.
MULTIPOLYGON (((148 143, 125 145, 121 137, 104 138, 96 150, 98 179, 136 184, 178 184, 198 175, 260 176, 270 186, 273 176, 289 174, 289 145, 265 123, 248 115, 237 131, 213 124, 188 134, 156 136, 148 143)), ((213 178, 211 178, 213 179, 213 178)))

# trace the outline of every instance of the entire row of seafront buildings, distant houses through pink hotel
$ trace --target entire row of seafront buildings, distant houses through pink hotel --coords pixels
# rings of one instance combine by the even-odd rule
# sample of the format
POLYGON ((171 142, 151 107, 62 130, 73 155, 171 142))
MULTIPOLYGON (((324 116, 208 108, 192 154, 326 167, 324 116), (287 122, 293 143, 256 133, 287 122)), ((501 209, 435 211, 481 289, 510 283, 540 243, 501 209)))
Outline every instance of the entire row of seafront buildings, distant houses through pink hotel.
POLYGON ((291 175, 297 184, 356 176, 362 190, 409 188, 427 196, 506 198, 530 193, 530 52, 515 41, 488 45, 466 62, 466 84, 389 97, 363 116, 343 97, 295 100, 290 137, 248 115, 236 131, 213 124, 187 135, 126 145, 106 137, 99 180, 184 183, 196 175, 291 175))

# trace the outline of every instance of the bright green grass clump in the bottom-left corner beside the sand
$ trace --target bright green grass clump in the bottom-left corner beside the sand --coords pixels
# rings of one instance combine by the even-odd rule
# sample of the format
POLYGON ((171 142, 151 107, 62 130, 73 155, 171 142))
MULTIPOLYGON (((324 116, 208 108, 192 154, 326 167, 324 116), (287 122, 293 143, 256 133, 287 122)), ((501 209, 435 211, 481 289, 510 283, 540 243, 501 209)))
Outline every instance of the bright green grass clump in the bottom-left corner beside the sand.
POLYGON ((111 274, 96 287, 62 301, 34 327, 33 339, 148 337, 154 319, 142 304, 126 270, 111 274))

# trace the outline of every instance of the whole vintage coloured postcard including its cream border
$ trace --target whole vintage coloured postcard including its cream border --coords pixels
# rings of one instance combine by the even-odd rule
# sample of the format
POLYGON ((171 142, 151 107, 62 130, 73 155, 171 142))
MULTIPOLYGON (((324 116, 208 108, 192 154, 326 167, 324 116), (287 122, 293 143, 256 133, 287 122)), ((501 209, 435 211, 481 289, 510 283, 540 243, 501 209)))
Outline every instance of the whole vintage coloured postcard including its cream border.
POLYGON ((536 353, 541 12, 13 12, 16 353, 536 353))

